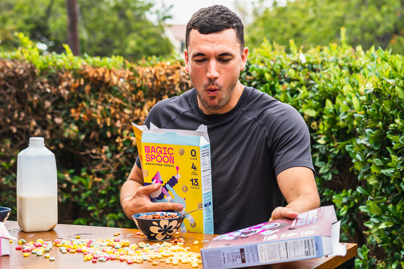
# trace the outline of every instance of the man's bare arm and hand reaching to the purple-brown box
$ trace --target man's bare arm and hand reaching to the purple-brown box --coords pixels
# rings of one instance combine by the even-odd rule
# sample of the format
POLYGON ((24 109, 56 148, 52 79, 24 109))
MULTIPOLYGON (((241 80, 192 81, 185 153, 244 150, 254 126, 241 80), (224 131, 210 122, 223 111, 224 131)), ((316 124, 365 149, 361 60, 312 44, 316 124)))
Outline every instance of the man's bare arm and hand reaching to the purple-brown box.
POLYGON ((279 188, 286 199, 286 207, 277 207, 270 220, 294 219, 301 212, 320 207, 320 197, 313 171, 307 167, 292 167, 276 177, 279 188))

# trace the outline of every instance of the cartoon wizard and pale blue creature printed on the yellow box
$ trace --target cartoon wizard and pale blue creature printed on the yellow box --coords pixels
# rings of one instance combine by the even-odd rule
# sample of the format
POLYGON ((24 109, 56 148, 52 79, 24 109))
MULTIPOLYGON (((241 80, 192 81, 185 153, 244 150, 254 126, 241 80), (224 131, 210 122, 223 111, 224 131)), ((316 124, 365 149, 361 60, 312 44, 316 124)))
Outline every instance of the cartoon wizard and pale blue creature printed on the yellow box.
MULTIPOLYGON (((168 202, 168 203, 181 204, 183 207, 182 210, 181 211, 175 210, 175 212, 180 214, 186 213, 185 198, 180 197, 177 194, 177 192, 173 189, 173 187, 178 183, 178 179, 180 178, 181 175, 178 174, 178 166, 177 166, 177 175, 172 176, 164 185, 160 172, 157 172, 156 175, 151 179, 151 183, 152 184, 161 183, 161 187, 158 190, 154 191, 153 193, 149 194, 150 200, 154 203, 168 202), (171 193, 174 195, 174 198, 170 195, 169 191, 171 191, 171 193)), ((193 224, 195 222, 191 214, 188 214, 186 219, 189 221, 190 224, 193 224)), ((180 230, 182 233, 186 232, 184 222, 181 224, 180 230)))

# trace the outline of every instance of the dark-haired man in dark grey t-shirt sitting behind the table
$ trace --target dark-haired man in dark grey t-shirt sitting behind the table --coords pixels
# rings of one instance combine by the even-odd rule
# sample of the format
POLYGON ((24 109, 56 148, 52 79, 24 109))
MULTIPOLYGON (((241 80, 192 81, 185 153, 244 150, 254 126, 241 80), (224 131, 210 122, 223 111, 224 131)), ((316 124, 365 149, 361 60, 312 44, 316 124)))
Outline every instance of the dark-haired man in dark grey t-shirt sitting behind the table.
MULTIPOLYGON (((157 103, 145 124, 208 126, 215 234, 318 208, 304 120, 293 107, 238 80, 248 48, 237 15, 219 5, 196 12, 187 24, 184 53, 195 88, 157 103), (281 207, 284 198, 287 207, 281 207)), ((160 186, 144 186, 138 158, 121 190, 126 215, 181 210, 177 204, 150 202, 148 194, 160 186)))

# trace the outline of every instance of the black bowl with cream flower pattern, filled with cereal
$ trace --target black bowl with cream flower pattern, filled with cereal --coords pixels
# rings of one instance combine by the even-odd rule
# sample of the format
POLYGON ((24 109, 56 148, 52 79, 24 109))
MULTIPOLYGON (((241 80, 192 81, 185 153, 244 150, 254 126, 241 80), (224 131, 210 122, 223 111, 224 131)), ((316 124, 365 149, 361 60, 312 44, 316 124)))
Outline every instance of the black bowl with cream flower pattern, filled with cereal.
POLYGON ((148 240, 169 240, 175 232, 181 227, 185 216, 173 219, 142 219, 140 216, 149 216, 153 214, 164 215, 176 215, 181 214, 171 213, 171 212, 148 212, 139 213, 132 216, 135 221, 137 228, 146 236, 148 240))

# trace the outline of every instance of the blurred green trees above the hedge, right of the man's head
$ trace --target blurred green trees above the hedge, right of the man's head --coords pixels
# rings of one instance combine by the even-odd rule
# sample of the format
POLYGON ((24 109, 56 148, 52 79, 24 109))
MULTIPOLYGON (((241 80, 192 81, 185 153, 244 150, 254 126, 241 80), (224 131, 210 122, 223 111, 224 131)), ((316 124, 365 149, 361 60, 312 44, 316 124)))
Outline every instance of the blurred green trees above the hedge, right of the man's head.
MULTIPOLYGON (((275 2, 276 3, 276 2, 275 2)), ((404 52, 404 3, 400 0, 300 0, 274 4, 247 29, 246 44, 260 46, 263 37, 288 46, 294 39, 305 49, 341 44, 339 29, 346 28, 348 44, 392 48, 404 52)))

